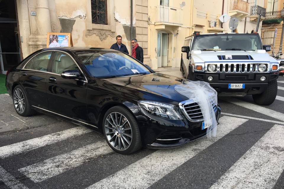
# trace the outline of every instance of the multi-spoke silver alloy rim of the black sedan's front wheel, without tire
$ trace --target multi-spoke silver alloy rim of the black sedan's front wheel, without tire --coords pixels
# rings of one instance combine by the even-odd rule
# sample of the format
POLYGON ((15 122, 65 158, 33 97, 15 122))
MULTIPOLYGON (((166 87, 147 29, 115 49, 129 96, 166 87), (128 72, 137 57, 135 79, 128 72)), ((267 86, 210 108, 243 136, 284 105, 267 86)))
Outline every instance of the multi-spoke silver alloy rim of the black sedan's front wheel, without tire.
POLYGON ((132 129, 127 118, 119 112, 112 112, 104 124, 106 138, 117 150, 126 150, 132 141, 132 129))

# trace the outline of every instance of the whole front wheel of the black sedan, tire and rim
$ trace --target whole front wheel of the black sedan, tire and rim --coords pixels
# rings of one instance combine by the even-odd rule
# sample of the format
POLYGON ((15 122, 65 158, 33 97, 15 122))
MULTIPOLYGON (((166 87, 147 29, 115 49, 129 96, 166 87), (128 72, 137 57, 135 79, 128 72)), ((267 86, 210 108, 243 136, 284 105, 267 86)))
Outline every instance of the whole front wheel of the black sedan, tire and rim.
POLYGON ((125 107, 107 110, 102 123, 106 142, 117 153, 132 154, 142 147, 137 121, 125 107))

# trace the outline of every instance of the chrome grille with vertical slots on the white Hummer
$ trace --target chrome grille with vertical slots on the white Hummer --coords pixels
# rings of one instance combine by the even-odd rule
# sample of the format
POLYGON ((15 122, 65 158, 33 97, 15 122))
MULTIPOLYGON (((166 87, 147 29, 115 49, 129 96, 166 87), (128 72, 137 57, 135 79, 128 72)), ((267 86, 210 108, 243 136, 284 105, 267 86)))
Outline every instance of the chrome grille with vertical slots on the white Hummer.
MULTIPOLYGON (((215 63, 206 63, 206 72, 209 73, 257 73, 258 65, 262 63, 216 63, 217 70, 209 71, 207 70, 208 64, 215 63)), ((264 63, 267 69, 264 72, 270 71, 270 63, 264 63)))

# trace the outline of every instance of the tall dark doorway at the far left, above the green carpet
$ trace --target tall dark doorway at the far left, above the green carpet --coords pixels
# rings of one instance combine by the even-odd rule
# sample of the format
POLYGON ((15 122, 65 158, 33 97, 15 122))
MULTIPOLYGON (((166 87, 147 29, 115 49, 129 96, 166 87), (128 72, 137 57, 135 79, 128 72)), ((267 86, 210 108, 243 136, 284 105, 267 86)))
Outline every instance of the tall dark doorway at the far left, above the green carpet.
POLYGON ((15 1, 0 1, 0 66, 6 72, 21 61, 15 1))

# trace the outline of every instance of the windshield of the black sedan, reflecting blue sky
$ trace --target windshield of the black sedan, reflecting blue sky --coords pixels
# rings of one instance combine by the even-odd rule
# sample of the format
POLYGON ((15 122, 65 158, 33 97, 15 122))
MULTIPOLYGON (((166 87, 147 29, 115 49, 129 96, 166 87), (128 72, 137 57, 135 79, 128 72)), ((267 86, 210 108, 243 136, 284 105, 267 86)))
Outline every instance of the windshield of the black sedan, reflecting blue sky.
POLYGON ((121 52, 85 51, 78 56, 94 77, 118 77, 150 73, 141 63, 121 52))

